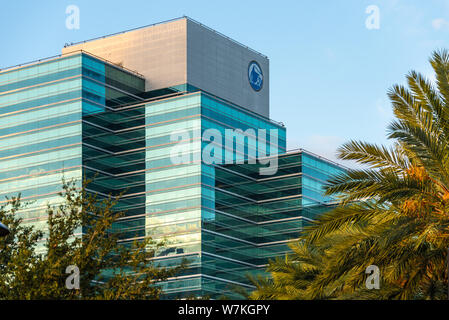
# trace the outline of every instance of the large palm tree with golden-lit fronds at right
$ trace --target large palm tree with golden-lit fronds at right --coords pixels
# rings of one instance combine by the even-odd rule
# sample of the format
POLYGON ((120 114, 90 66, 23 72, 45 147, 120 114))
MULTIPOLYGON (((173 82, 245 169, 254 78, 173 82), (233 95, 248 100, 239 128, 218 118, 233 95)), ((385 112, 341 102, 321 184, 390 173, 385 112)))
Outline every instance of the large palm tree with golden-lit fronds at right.
MULTIPOLYGON (((435 83, 411 71, 408 88, 395 85, 388 92, 396 117, 388 126, 392 147, 350 141, 338 149, 340 159, 360 168, 328 182, 326 193, 341 203, 304 232, 305 246, 332 243, 305 289, 307 298, 447 298, 448 51, 435 51, 430 63, 435 83), (365 287, 369 265, 381 270, 381 290, 365 287)), ((282 286, 275 273, 272 283, 282 286)))

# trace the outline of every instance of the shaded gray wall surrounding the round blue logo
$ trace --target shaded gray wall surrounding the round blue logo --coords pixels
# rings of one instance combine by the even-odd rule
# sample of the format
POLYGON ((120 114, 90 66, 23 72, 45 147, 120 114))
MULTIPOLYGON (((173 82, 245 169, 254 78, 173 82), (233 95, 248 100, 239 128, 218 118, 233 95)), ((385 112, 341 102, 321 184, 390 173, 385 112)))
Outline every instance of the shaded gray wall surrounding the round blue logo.
POLYGON ((269 117, 269 61, 266 57, 187 21, 187 80, 190 84, 269 117), (257 61, 263 86, 255 91, 248 81, 248 66, 257 61))

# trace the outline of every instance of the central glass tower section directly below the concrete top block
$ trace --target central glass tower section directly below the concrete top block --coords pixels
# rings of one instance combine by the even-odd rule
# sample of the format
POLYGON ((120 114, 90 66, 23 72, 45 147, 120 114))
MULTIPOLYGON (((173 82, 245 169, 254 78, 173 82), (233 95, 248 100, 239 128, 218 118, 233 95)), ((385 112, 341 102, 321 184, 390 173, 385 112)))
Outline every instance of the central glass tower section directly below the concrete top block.
POLYGON ((222 150, 215 156, 218 163, 224 163, 226 157, 232 161, 247 158, 249 149, 257 149, 258 143, 270 150, 268 139, 259 141, 255 136, 244 141, 235 139, 235 148, 226 149, 225 130, 275 129, 279 133, 278 149, 271 146, 270 152, 284 153, 285 128, 204 92, 149 103, 145 109, 146 232, 154 239, 167 241, 157 257, 161 264, 176 264, 182 258, 190 262, 182 280, 166 283, 165 292, 172 297, 212 295, 215 292, 206 286, 217 286, 216 281, 221 285, 223 279, 218 275, 220 262, 210 260, 206 243, 211 235, 206 225, 216 219, 215 163, 200 161, 210 143, 202 137, 211 129, 222 137, 222 150), (184 153, 187 161, 176 164, 171 153, 180 141, 188 147, 184 153), (210 284, 217 275, 218 280, 210 284))

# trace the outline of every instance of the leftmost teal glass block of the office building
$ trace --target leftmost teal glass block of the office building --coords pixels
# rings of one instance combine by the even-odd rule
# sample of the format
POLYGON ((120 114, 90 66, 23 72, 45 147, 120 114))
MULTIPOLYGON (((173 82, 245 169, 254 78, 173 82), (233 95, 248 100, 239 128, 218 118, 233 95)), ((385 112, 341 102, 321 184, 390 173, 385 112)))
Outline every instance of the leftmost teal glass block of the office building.
POLYGON ((80 182, 100 156, 84 119, 132 101, 144 81, 85 53, 0 72, 0 201, 20 193, 24 223, 45 231, 62 179, 80 182))

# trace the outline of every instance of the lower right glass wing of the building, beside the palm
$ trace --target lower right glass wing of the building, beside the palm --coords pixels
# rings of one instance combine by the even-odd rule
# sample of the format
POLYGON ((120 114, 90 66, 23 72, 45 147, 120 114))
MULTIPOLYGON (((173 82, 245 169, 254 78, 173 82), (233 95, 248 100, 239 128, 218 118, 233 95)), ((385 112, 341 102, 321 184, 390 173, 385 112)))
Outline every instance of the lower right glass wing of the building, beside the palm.
POLYGON ((344 169, 306 151, 278 157, 276 174, 259 164, 215 167, 215 218, 204 223, 204 289, 213 297, 235 297, 232 284, 249 285, 247 274, 264 274, 268 259, 289 252, 305 224, 329 210, 326 180, 344 169))

